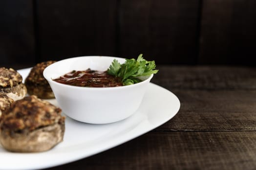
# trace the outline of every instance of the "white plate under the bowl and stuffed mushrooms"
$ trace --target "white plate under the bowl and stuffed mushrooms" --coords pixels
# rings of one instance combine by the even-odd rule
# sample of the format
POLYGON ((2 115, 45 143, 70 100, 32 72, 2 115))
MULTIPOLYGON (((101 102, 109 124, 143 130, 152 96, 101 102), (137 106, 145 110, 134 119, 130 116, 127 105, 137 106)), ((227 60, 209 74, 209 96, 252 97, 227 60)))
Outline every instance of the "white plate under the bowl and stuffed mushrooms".
MULTIPOLYGON (((25 79, 30 68, 18 71, 25 79)), ((55 99, 48 101, 58 105, 55 99)), ((128 119, 94 125, 66 117, 64 141, 43 153, 11 153, 0 145, 0 169, 49 168, 106 151, 162 125, 175 116, 179 108, 180 102, 173 93, 150 83, 138 111, 128 119)))

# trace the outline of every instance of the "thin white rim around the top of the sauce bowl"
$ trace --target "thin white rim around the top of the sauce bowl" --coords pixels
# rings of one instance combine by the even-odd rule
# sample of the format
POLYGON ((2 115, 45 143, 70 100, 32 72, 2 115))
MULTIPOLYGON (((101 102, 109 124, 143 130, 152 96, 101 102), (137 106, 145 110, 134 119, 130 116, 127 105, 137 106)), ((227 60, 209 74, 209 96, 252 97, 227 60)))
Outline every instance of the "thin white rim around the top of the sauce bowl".
MULTIPOLYGON (((150 80, 152 79, 153 77, 153 74, 151 74, 150 76, 148 76, 148 78, 146 78, 145 80, 143 80, 142 82, 139 82, 139 83, 136 83, 136 84, 133 84, 133 85, 123 85, 123 86, 115 86, 115 87, 83 87, 83 86, 75 86, 75 85, 65 85, 65 84, 62 84, 62 83, 58 83, 58 82, 55 82, 52 80, 52 78, 50 76, 46 76, 46 71, 47 69, 51 68, 51 67, 54 67, 57 63, 61 63, 61 62, 64 62, 66 60, 71 60, 71 59, 75 59, 75 58, 96 58, 96 57, 108 57, 108 58, 113 58, 113 59, 126 59, 126 58, 121 58, 121 57, 114 57, 114 56, 103 56, 103 55, 88 55, 88 56, 78 56, 78 57, 70 57, 70 58, 66 58, 66 59, 63 59, 63 60, 59 60, 49 66, 47 66, 46 68, 44 68, 43 70, 43 77, 50 83, 54 84, 54 85, 60 85, 60 86, 63 86, 63 87, 66 87, 66 88, 71 88, 71 89, 90 89, 90 90, 114 90, 114 89, 125 89, 125 88, 132 88, 132 87, 135 87, 135 86, 139 86, 139 85, 142 85, 142 84, 145 84, 147 83, 148 81, 150 82, 150 80), (46 71, 45 71, 46 70, 46 71)), ((66 74, 66 73, 64 73, 66 74)), ((62 76, 62 75, 61 75, 62 76)))

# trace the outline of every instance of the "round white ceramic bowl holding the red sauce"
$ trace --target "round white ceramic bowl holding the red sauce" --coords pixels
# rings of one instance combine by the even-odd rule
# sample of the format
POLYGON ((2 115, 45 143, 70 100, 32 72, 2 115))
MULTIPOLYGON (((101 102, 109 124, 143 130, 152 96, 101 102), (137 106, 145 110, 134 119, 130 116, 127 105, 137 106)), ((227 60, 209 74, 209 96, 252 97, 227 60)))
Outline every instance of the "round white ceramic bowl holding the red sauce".
POLYGON ((79 87, 52 80, 72 70, 91 68, 105 71, 114 59, 125 62, 124 58, 118 57, 84 56, 64 59, 44 69, 43 76, 68 117, 86 123, 104 124, 126 119, 136 112, 153 75, 140 83, 118 87, 79 87))

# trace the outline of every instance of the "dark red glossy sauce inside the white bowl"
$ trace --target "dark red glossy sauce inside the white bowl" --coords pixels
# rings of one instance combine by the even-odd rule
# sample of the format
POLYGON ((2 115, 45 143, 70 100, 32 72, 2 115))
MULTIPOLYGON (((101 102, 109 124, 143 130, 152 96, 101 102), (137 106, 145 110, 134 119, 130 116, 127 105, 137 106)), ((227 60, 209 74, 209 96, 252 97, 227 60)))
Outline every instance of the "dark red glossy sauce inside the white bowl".
POLYGON ((53 81, 65 85, 74 85, 82 87, 115 87, 122 86, 121 79, 107 74, 106 71, 91 70, 85 71, 73 70, 53 81))

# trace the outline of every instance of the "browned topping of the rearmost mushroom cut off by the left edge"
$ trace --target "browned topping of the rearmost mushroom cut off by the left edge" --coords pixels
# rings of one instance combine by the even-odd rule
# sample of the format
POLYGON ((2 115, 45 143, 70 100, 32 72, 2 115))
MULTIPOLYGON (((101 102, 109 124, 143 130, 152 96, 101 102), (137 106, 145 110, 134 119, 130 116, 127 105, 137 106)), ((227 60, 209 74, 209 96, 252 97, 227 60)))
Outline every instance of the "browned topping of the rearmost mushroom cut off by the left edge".
POLYGON ((0 88, 13 87, 22 82, 21 74, 12 68, 0 68, 0 88))

